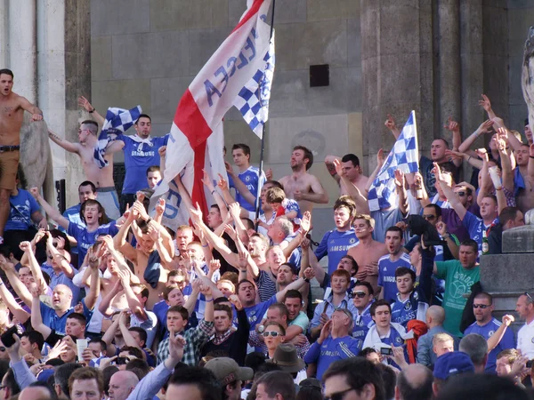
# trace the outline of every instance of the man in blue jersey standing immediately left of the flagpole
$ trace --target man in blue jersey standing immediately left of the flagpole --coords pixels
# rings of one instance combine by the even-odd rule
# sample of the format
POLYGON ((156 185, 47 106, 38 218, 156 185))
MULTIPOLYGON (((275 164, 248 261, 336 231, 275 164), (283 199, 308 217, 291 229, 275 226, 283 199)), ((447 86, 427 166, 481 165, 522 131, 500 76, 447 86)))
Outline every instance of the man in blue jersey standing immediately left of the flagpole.
POLYGON ((239 173, 236 175, 231 167, 227 167, 229 187, 236 190, 236 201, 241 208, 247 210, 248 218, 255 219, 255 197, 258 187, 261 189, 266 180, 265 174, 262 172, 260 178, 259 168, 250 165, 250 148, 246 144, 234 144, 231 157, 239 173))

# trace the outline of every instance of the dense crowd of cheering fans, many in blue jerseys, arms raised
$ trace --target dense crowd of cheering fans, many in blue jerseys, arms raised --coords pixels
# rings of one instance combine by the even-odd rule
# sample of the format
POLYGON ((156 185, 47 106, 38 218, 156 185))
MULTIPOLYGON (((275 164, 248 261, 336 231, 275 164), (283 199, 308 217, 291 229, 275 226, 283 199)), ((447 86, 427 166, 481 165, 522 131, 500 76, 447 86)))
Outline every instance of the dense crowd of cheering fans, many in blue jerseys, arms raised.
MULTIPOLYGON (((334 228, 315 243, 313 205, 332 196, 309 172, 308 148, 293 148, 291 173, 277 180, 250 165, 246 144, 232 145, 228 180, 204 176, 206 210, 177 175, 190 224, 173 230, 164 199, 149 207, 173 162, 168 135, 152 138, 142 115, 98 168, 103 119, 80 98, 94 120, 80 124, 79 142, 49 132, 84 165, 79 204, 61 214, 17 181, 1 227, 0 396, 529 398, 534 300, 519 296, 526 324, 515 335, 514 316, 493 316, 479 260, 502 252, 502 232, 534 204, 534 145, 528 124, 525 144, 487 97, 480 103, 489 119, 476 132, 462 141, 449 120, 451 148, 436 139, 419 172, 395 172, 387 208, 370 211, 367 198, 382 151, 369 177, 357 156, 327 156, 339 196, 334 228), (472 150, 482 134, 489 148, 472 150), (472 180, 460 180, 463 163, 472 180)), ((400 136, 391 116, 385 125, 400 136)))

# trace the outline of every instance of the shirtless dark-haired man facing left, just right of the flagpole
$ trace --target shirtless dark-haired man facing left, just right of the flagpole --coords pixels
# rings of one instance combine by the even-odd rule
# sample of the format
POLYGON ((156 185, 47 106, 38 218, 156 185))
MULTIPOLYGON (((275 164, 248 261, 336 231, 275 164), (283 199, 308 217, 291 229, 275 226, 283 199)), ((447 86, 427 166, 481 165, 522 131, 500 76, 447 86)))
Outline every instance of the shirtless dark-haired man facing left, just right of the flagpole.
POLYGON ((313 203, 327 204, 328 194, 316 176, 308 173, 313 164, 313 154, 308 148, 295 146, 291 154, 291 169, 293 173, 281 180, 284 192, 288 198, 294 198, 300 206, 301 212, 312 212, 313 203))

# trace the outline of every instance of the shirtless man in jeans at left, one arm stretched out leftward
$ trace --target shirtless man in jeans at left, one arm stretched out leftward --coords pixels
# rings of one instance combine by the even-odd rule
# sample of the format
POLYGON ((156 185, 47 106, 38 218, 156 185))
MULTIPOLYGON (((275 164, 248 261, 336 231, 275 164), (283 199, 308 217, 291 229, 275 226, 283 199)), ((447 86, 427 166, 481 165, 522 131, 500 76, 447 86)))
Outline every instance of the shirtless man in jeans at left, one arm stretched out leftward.
POLYGON ((99 168, 93 157, 94 148, 98 142, 98 128, 98 124, 92 120, 82 122, 78 128, 79 143, 61 139, 51 130, 48 130, 48 137, 61 148, 80 157, 84 167, 85 179, 92 181, 96 186, 98 201, 106 210, 106 215, 111 220, 117 220, 120 217, 120 212, 115 182, 113 181, 113 153, 121 151, 124 143, 120 140, 111 141, 108 148, 106 148, 106 156, 104 156, 108 161, 108 165, 99 168))

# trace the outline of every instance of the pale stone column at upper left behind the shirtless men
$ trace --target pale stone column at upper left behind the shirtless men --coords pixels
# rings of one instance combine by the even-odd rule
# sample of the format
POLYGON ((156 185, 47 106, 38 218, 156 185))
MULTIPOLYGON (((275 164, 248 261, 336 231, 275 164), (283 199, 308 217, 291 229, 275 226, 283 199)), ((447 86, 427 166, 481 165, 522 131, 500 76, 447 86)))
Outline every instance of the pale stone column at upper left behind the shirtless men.
MULTIPOLYGON (((77 97, 91 97, 90 0, 0 0, 0 36, 0 68, 13 70, 15 92, 43 110, 54 132, 77 141, 78 120, 89 117, 77 97)), ((51 149, 53 179, 66 180, 67 204, 77 204, 79 158, 51 149)))

